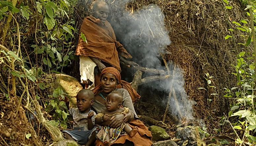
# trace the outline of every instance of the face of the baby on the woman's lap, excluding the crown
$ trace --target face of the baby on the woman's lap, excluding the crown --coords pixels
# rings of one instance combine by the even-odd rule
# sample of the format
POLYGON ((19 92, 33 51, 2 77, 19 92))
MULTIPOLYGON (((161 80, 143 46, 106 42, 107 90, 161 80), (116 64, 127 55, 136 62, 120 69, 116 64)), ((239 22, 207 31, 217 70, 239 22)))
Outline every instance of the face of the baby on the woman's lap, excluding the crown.
POLYGON ((118 94, 110 94, 109 96, 107 96, 106 108, 108 111, 115 111, 118 108, 120 108, 122 103, 120 103, 119 96, 120 95, 118 95, 118 94))

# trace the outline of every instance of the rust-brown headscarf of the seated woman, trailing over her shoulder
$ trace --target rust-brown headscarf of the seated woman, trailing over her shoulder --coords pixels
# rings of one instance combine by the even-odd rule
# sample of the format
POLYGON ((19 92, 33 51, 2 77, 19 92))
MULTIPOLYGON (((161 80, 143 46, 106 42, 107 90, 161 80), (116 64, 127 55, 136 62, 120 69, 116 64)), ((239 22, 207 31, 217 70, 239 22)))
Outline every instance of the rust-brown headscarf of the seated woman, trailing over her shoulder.
MULTIPOLYGON (((126 82, 124 80, 121 80, 120 72, 115 67, 104 68, 101 71, 100 79, 103 76, 103 74, 105 74, 105 73, 111 73, 116 77, 117 82, 120 83, 120 84, 117 85, 117 88, 126 89, 129 92, 130 96, 131 96, 132 102, 136 102, 137 100, 140 99, 140 95, 131 87, 131 85, 128 82, 126 82)), ((93 91, 94 95, 98 94, 99 92, 102 91, 101 85, 97 85, 92 91, 93 91)))

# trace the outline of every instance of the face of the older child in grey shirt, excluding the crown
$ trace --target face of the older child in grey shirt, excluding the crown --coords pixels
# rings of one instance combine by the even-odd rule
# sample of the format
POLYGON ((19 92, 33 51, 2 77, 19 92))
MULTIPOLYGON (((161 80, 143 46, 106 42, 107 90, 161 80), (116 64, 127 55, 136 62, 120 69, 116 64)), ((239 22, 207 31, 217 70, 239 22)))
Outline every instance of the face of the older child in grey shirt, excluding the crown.
POLYGON ((82 113, 87 113, 90 111, 90 106, 93 104, 93 100, 90 100, 90 98, 88 98, 88 94, 84 93, 77 96, 76 104, 77 108, 82 113))

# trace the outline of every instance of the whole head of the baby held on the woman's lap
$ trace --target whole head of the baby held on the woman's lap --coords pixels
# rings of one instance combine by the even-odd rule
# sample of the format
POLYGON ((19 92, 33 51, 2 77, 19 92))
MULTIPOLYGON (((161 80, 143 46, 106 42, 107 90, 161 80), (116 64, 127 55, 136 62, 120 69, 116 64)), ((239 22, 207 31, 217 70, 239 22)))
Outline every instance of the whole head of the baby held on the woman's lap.
POLYGON ((116 91, 108 94, 106 99, 106 108, 108 111, 115 111, 122 106, 123 96, 116 91))

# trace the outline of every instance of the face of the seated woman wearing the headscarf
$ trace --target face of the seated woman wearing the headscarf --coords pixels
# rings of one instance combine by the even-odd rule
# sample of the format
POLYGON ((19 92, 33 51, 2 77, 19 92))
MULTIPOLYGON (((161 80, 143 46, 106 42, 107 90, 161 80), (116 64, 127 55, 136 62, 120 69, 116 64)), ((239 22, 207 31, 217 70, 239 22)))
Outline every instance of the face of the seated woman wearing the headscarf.
POLYGON ((105 73, 101 78, 101 86, 104 93, 112 92, 117 85, 116 77, 111 73, 105 73))

